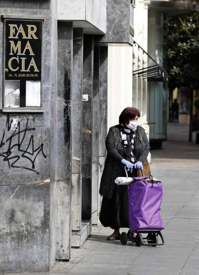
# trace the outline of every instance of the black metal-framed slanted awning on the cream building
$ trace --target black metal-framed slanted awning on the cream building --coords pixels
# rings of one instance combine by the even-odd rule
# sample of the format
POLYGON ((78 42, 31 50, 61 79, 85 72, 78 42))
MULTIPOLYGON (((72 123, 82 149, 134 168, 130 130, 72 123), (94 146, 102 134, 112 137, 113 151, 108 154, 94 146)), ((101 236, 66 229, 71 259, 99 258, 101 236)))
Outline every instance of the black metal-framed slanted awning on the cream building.
POLYGON ((147 79, 148 81, 168 81, 166 70, 160 66, 137 42, 134 41, 134 44, 136 44, 138 49, 141 49, 143 54, 146 54, 155 64, 135 70, 133 71, 133 75, 138 75, 138 77, 142 76, 143 79, 147 79))

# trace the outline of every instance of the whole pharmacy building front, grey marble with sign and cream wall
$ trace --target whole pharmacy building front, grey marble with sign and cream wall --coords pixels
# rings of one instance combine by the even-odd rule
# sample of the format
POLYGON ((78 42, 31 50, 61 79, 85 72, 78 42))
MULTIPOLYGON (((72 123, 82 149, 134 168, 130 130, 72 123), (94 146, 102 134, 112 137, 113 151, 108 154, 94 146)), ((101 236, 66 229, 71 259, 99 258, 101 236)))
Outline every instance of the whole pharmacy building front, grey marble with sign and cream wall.
POLYGON ((0 14, 0 272, 46 271, 98 222, 107 130, 132 102, 133 3, 10 0, 0 14))

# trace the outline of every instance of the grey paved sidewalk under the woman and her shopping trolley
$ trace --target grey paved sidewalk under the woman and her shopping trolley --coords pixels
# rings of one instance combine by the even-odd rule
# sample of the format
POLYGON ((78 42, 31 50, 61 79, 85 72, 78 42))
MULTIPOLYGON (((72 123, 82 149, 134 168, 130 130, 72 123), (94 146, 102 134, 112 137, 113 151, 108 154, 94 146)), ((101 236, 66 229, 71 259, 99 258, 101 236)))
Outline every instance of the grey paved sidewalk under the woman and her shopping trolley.
MULTIPOLYGON (((152 151, 152 174, 163 183, 161 216, 165 244, 136 247, 106 241, 112 229, 93 226, 92 235, 69 262, 56 262, 48 275, 198 275, 199 145, 188 143, 188 127, 168 125, 168 141, 152 151)), ((128 229, 120 229, 120 232, 128 229)), ((28 273, 30 275, 30 273, 28 273)))

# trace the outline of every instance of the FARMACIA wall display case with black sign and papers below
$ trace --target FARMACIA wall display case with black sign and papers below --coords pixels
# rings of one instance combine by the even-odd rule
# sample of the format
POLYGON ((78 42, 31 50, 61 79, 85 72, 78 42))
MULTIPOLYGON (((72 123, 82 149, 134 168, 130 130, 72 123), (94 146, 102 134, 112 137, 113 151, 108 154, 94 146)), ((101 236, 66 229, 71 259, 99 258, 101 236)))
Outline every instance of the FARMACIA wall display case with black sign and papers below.
POLYGON ((41 109, 42 21, 4 19, 3 111, 41 109))

